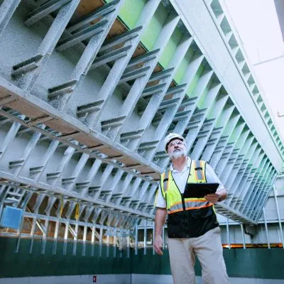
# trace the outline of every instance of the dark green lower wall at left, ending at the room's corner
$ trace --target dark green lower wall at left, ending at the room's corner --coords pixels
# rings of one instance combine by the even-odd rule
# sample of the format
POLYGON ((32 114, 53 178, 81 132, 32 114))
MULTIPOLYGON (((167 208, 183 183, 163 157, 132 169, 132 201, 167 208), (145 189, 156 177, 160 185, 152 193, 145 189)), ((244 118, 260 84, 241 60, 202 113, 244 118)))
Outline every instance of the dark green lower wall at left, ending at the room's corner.
POLYGON ((110 247, 107 258, 106 247, 102 247, 102 257, 99 257, 99 246, 94 247, 94 256, 91 256, 90 246, 86 247, 86 256, 82 256, 82 245, 77 244, 77 256, 72 256, 73 245, 68 244, 66 256, 62 255, 63 244, 58 242, 58 253, 53 256, 53 242, 47 242, 45 254, 40 253, 41 241, 35 241, 33 253, 29 253, 28 239, 22 239, 20 250, 14 253, 16 239, 0 238, 0 278, 28 277, 46 275, 89 275, 89 274, 129 274, 131 261, 126 258, 126 251, 119 258, 113 258, 110 247), (16 268, 16 269, 15 269, 16 268))

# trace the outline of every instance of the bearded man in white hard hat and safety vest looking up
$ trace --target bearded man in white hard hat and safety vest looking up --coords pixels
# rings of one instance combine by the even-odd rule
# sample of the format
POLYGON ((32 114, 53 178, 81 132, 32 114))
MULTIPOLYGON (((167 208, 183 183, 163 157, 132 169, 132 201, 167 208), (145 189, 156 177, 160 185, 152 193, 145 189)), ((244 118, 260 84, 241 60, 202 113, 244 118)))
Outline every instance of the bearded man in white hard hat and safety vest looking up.
POLYGON ((163 255, 161 234, 168 213, 168 249, 174 283, 195 284, 197 255, 204 284, 227 284, 220 228, 214 212, 214 204, 226 199, 226 190, 209 164, 186 156, 185 139, 179 134, 165 137, 165 151, 172 165, 160 175, 154 249, 163 255), (219 187, 216 193, 203 198, 183 198, 187 182, 218 182, 219 187))

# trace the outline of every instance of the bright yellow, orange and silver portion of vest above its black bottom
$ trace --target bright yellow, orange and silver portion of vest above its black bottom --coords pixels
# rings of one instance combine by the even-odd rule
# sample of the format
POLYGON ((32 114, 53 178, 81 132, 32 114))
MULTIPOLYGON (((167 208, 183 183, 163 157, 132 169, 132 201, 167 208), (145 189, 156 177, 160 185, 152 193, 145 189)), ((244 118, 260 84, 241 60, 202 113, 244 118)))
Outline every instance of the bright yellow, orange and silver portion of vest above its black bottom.
MULTIPOLYGON (((192 160, 187 182, 206 182, 205 162, 203 160, 192 160)), ((182 197, 170 170, 160 175, 160 186, 167 204, 168 214, 182 211, 182 197)), ((200 209, 212 205, 204 198, 185 198, 185 210, 200 209)))

